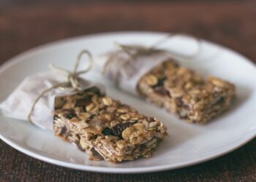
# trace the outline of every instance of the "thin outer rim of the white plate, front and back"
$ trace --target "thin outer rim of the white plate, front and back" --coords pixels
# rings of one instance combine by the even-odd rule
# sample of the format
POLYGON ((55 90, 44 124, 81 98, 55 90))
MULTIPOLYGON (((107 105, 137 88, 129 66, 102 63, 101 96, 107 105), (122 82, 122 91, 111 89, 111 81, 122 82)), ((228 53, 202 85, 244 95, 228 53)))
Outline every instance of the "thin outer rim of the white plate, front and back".
MULTIPOLYGON (((81 36, 74 36, 74 37, 69 37, 66 39, 60 39, 57 41, 51 41, 46 44, 39 45, 37 47, 31 48, 29 50, 26 50, 24 52, 20 52, 18 55, 15 55, 14 57, 8 59, 5 61, 3 64, 0 66, 0 73, 4 71, 7 68, 10 68, 12 65, 15 63, 19 63, 23 60, 23 58, 26 58, 27 56, 31 56, 33 54, 38 54, 40 50, 44 50, 47 47, 55 47, 58 46, 58 44, 63 44, 71 41, 77 41, 79 39, 89 39, 93 38, 95 36, 114 36, 114 35, 121 35, 121 34, 155 34, 155 35, 165 35, 167 32, 158 32, 158 31, 114 31, 114 32, 107 32, 107 33, 93 33, 89 35, 81 35, 81 36)), ((238 57, 241 57, 246 61, 246 63, 249 63, 250 66, 254 66, 256 68, 255 64, 252 63, 252 61, 249 60, 249 58, 246 58, 244 55, 241 55, 239 52, 236 52, 235 50, 231 50, 228 47, 222 46, 220 44, 214 43, 212 41, 208 41, 205 39, 202 39, 203 41, 206 41, 209 44, 214 44, 217 47, 221 47, 224 50, 227 50, 231 52, 233 55, 236 55, 238 57)), ((75 170, 86 170, 90 172, 99 172, 99 173, 151 173, 151 172, 157 172, 157 171, 162 171, 162 170, 174 170, 178 169, 181 167, 188 167, 192 165, 197 165, 202 162, 209 161, 211 159, 215 159, 217 157, 221 157, 225 154, 230 153, 231 151, 234 151, 241 146, 244 146, 246 143, 249 143, 249 141, 252 141, 256 137, 256 130, 250 133, 249 135, 246 135, 245 138, 241 138, 241 140, 238 141, 236 146, 228 146, 226 149, 222 151, 218 151, 216 154, 211 154, 206 157, 202 157, 201 159, 194 159, 188 162, 183 162, 183 163, 178 163, 177 165, 160 165, 156 167, 95 167, 95 166, 90 166, 90 165, 78 165, 74 164, 71 162, 63 162, 59 159, 54 159, 52 157, 47 157, 44 154, 37 154, 34 151, 31 151, 29 149, 26 149, 26 147, 20 146, 18 143, 15 141, 12 141, 10 138, 7 136, 4 136, 0 133, 0 139, 4 141, 4 143, 7 143, 8 145, 12 146, 12 148, 22 152, 23 154, 27 154, 30 157, 34 157, 35 159, 39 159, 43 162, 48 162, 53 165, 58 165, 61 167, 67 167, 67 168, 72 168, 75 170)))

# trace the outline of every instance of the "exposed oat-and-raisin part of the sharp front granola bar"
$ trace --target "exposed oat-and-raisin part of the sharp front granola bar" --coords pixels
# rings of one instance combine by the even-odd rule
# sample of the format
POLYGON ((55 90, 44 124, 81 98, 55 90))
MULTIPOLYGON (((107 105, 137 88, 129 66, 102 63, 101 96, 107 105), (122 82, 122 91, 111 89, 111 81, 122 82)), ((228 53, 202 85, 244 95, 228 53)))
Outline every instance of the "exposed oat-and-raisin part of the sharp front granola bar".
POLYGON ((53 129, 90 159, 123 162, 151 157, 167 135, 159 120, 102 94, 97 87, 56 98, 53 129))

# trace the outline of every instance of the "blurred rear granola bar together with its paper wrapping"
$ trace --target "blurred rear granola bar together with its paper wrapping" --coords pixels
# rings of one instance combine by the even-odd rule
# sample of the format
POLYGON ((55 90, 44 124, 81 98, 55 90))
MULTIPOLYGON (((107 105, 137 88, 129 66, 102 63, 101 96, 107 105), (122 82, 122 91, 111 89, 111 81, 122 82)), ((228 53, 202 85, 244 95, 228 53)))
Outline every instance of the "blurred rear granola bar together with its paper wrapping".
POLYGON ((167 50, 120 45, 98 62, 121 90, 139 95, 193 123, 208 122, 230 107, 235 87, 225 80, 204 79, 183 66, 167 50))

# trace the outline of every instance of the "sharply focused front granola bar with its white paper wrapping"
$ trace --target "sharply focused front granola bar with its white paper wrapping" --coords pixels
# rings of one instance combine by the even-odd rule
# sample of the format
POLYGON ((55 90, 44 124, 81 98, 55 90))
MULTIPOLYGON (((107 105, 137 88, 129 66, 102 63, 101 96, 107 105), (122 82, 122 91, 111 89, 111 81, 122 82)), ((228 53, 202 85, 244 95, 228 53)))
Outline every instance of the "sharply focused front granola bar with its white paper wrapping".
POLYGON ((102 85, 81 79, 89 69, 77 71, 78 63, 73 72, 53 66, 65 76, 43 72, 27 77, 1 103, 1 111, 53 130, 93 160, 116 163, 151 157, 167 135, 164 124, 109 98, 102 85))

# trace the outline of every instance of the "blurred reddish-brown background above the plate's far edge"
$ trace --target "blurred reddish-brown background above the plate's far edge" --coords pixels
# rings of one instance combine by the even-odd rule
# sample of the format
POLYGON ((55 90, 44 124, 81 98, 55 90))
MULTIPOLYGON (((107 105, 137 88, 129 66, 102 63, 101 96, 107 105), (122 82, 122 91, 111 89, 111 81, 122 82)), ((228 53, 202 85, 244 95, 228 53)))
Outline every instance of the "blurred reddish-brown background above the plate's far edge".
POLYGON ((0 63, 49 41, 110 31, 189 33, 256 59, 256 1, 1 0, 0 63))

